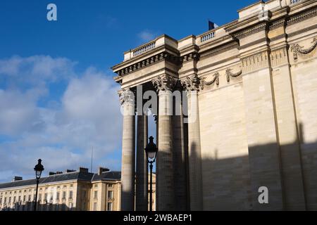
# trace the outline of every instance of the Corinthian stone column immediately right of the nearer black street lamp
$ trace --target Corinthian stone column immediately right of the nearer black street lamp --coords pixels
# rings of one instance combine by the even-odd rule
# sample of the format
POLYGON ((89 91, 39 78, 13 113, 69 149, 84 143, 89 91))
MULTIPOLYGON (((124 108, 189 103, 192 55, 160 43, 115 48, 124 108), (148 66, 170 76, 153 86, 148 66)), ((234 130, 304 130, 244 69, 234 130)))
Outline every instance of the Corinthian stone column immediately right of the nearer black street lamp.
POLYGON ((159 211, 175 210, 174 177, 173 177, 173 96, 172 89, 175 79, 170 75, 163 75, 153 81, 159 91, 159 152, 157 161, 158 181, 156 188, 159 211))

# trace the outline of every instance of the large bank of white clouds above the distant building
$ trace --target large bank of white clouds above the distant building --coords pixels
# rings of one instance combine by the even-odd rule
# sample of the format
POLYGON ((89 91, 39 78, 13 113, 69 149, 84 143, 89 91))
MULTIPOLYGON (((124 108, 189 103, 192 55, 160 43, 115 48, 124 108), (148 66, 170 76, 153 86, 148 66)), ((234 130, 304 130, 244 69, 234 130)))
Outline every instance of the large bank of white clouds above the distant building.
POLYGON ((46 172, 88 167, 92 146, 95 166, 120 169, 120 159, 112 156, 120 151, 121 140, 118 86, 94 68, 75 74, 74 65, 50 56, 0 60, 0 76, 20 82, 18 88, 0 89, 0 181, 32 177, 37 158, 46 172), (25 89, 28 81, 17 78, 22 75, 42 84, 32 82, 25 89), (50 102, 46 86, 61 76, 68 86, 59 100, 50 102), (48 98, 46 105, 38 104, 42 96, 48 98))

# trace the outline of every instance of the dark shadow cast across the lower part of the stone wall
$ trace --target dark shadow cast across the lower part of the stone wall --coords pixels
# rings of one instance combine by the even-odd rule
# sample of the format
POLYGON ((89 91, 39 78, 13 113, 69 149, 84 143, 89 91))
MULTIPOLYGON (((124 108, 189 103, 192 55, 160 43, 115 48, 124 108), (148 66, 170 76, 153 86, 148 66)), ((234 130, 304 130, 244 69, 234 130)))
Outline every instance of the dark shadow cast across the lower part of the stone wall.
MULTIPOLYGON (((195 149, 190 151, 190 157, 197 157, 195 149)), ((317 140, 304 140, 302 124, 294 142, 249 146, 246 152, 225 158, 218 148, 204 149, 204 210, 317 210, 317 140), (262 186, 268 188, 268 204, 259 203, 262 186)), ((232 146, 232 153, 239 153, 239 149, 232 146)), ((174 184, 164 185, 173 188, 174 184)))

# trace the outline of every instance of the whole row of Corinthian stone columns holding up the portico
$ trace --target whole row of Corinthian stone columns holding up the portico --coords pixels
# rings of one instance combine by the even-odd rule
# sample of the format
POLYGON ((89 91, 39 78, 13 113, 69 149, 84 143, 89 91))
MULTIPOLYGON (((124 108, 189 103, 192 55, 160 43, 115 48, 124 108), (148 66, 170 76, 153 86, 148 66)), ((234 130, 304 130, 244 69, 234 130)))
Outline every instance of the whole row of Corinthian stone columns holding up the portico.
MULTIPOLYGON (((202 210, 197 94, 201 83, 196 75, 187 77, 181 86, 170 75, 158 77, 152 83, 159 96, 159 115, 156 117, 156 141, 159 148, 156 160, 156 210, 202 210), (173 102, 172 91, 175 87, 187 89, 188 130, 182 113, 174 115, 173 112, 173 108, 182 110, 182 105, 173 102)), ((147 115, 137 116, 135 192, 135 98, 129 89, 119 91, 119 96, 123 110, 121 210, 147 210, 148 172, 144 153, 148 136, 147 115)))

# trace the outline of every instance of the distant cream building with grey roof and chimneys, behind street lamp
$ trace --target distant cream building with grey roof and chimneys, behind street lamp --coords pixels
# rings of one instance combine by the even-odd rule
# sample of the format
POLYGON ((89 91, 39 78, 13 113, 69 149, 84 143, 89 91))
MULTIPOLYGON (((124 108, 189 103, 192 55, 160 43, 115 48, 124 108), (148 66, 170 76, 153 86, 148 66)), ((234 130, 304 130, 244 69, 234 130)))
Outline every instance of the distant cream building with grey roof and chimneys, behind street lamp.
MULTIPOLYGON (((97 174, 82 167, 65 173, 50 172, 39 180, 37 210, 120 211, 120 178, 121 172, 102 167, 97 174)), ((36 179, 23 180, 20 176, 0 184, 0 210, 32 211, 35 188, 36 179)))

